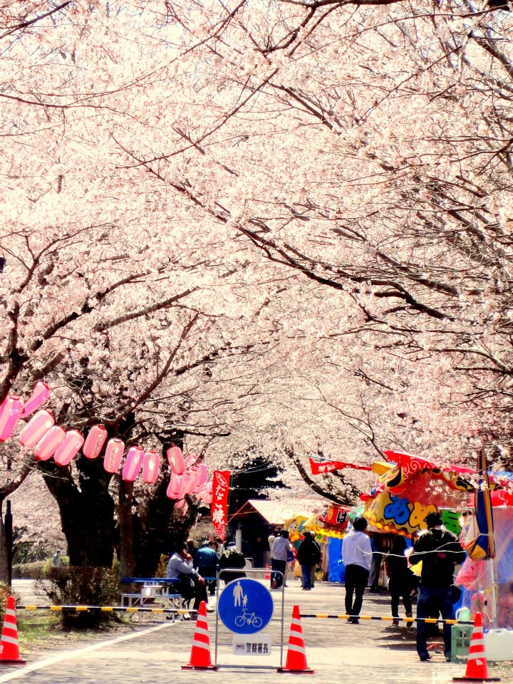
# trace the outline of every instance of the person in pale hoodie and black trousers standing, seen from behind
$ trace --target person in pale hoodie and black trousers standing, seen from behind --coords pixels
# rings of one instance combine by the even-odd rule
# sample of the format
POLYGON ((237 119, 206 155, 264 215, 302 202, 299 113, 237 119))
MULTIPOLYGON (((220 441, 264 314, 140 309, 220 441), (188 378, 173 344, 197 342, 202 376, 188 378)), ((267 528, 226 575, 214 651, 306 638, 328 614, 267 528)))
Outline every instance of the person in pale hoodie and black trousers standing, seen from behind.
POLYGON ((346 534, 342 542, 342 562, 346 566, 346 614, 350 616, 348 622, 353 625, 359 623, 363 591, 372 563, 371 540, 363 532, 367 524, 364 517, 355 518, 351 532, 346 534))

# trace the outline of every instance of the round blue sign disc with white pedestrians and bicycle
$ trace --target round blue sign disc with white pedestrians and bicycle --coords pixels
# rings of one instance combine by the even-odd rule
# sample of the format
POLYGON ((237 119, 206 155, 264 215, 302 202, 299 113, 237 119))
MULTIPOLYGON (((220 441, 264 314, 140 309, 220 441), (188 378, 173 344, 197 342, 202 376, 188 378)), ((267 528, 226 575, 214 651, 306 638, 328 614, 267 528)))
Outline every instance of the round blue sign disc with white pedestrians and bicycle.
POLYGON ((217 603, 219 619, 236 634, 254 634, 269 623, 274 603, 269 589, 255 579, 234 579, 217 603))

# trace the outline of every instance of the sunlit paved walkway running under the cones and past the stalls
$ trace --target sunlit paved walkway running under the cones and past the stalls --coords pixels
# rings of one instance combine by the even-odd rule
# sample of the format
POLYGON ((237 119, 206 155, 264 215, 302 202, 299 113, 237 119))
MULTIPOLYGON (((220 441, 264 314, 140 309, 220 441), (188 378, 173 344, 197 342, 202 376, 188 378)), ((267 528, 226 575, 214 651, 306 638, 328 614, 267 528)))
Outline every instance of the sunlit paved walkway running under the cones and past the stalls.
MULTIPOLYGON (((313 591, 301 591, 299 584, 290 582, 285 594, 284 641, 289 639, 291 611, 299 604, 301 613, 343 613, 344 590, 341 586, 317 584, 313 591)), ((272 592, 275 601, 281 594, 272 592)), ((275 608, 275 616, 279 614, 275 608)), ((390 615, 388 595, 367 594, 363 614, 390 615)), ((214 658, 215 615, 209 613, 209 636, 214 658)), ((269 633, 273 653, 265 657, 232 655, 232 634, 219 623, 218 663, 221 665, 272 665, 272 670, 222 668, 218 672, 199 673, 181 670, 188 662, 193 621, 172 623, 162 616, 133 618, 125 635, 98 637, 84 641, 83 646, 58 653, 28 653, 21 644, 22 655, 28 660, 26 670, 4 665, 0 670, 0 684, 20 681, 27 684, 168 684, 171 680, 199 682, 212 678, 223 684, 261 684, 283 678, 309 677, 311 682, 333 684, 343 680, 347 684, 363 684, 376 680, 379 684, 450 683, 453 676, 465 674, 465 663, 446 663, 440 638, 432 643, 432 660, 421 663, 415 653, 415 628, 394 627, 385 621, 364 621, 359 625, 346 620, 303 618, 302 627, 306 657, 314 675, 281 675, 274 668, 279 665, 280 623, 273 619, 265 632, 269 633), (40 665, 44 665, 40 667, 40 665), (33 669, 32 668, 37 668, 33 669)), ((403 624, 403 623, 401 623, 403 624)), ((511 665, 511 663, 509 663, 511 665)), ((490 676, 500 676, 504 684, 513 684, 513 668, 505 663, 489 663, 490 676)))

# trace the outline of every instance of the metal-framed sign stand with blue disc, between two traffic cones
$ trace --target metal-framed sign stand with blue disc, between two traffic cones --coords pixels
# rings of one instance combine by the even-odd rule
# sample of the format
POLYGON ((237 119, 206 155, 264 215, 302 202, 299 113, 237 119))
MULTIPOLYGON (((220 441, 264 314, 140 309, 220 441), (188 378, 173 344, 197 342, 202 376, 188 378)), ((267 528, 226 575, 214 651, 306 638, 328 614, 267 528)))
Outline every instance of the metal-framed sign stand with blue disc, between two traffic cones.
MULTIPOLYGON (((230 570, 224 568, 222 570, 223 576, 227 576, 230 572, 236 573, 240 578, 240 569, 230 570)), ((280 625, 280 660, 279 667, 283 667, 284 654, 284 610, 285 610, 285 591, 284 591, 284 576, 281 572, 273 571, 282 578, 280 589, 274 590, 276 594, 281 591, 281 615, 279 616, 280 625)), ((271 621, 274 611, 274 601, 269 592, 269 589, 262 584, 261 580, 265 580, 266 573, 269 569, 244 569, 244 574, 247 576, 244 579, 229 581, 222 591, 219 591, 219 579, 216 585, 216 626, 215 626, 215 646, 214 646, 214 667, 216 668, 230 668, 241 670, 275 670, 276 665, 228 665, 219 663, 218 660, 218 643, 219 643, 219 621, 224 626, 235 634, 251 635, 261 631, 271 621), (254 579, 249 579, 252 576, 254 579), (237 586, 237 584, 239 586, 237 586), (228 590, 228 591, 227 591, 228 590), (224 592, 227 592, 224 594, 224 592), (222 596, 225 596, 223 599, 222 596), (251 599, 254 599, 251 601, 251 599), (269 604, 271 602, 271 605, 269 604), (248 606, 246 608, 246 605, 248 606), (257 605, 257 610, 254 606, 257 605), (251 612, 250 612, 251 611, 251 612), (221 616, 219 616, 221 613, 221 616)), ((218 573, 219 578, 219 573, 218 573)))

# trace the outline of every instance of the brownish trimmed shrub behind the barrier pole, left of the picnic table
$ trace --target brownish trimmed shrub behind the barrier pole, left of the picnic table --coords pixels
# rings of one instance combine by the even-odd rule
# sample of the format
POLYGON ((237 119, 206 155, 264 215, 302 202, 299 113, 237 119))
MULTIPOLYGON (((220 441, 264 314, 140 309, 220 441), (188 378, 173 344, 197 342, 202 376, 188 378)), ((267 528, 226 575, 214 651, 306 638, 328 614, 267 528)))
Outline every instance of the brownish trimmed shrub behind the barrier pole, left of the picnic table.
MULTIPOLYGON (((118 600, 118 572, 93 566, 48 568, 45 579, 36 581, 37 591, 54 606, 112 606, 118 600)), ((63 628, 87 629, 118 619, 115 613, 100 610, 63 610, 63 628)))

